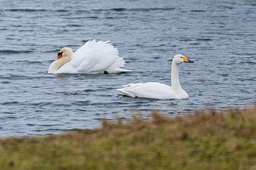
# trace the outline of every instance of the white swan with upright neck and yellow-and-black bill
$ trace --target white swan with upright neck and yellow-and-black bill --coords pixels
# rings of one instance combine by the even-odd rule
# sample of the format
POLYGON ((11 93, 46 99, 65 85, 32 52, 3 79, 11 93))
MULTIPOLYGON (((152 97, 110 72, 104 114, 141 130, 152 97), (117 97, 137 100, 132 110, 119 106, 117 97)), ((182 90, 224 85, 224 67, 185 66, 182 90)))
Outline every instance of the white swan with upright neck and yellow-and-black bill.
POLYGON ((138 98, 156 99, 182 99, 188 98, 188 94, 181 87, 178 79, 178 64, 192 62, 183 55, 175 55, 171 64, 171 86, 157 82, 127 84, 122 89, 117 89, 122 94, 138 98))

